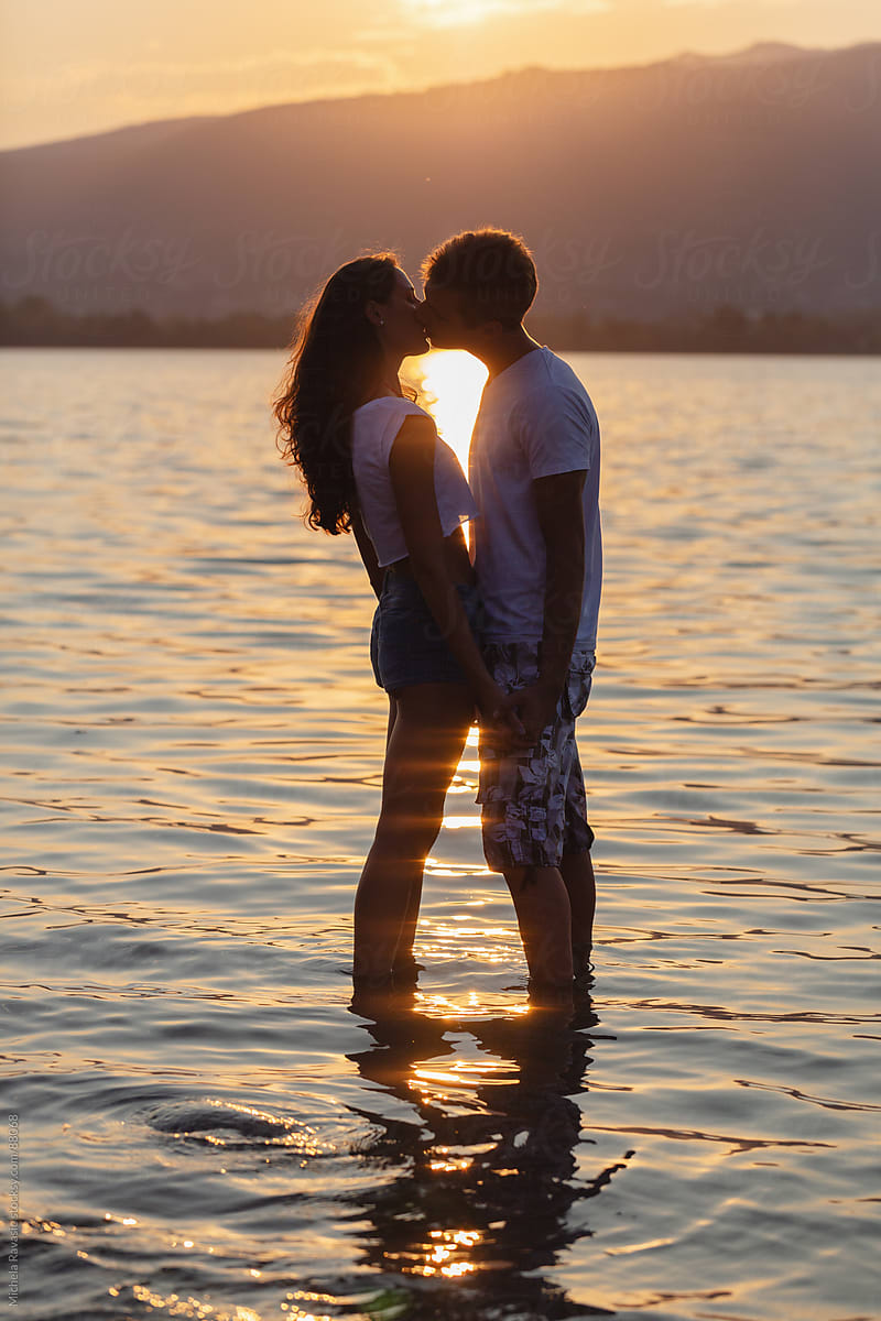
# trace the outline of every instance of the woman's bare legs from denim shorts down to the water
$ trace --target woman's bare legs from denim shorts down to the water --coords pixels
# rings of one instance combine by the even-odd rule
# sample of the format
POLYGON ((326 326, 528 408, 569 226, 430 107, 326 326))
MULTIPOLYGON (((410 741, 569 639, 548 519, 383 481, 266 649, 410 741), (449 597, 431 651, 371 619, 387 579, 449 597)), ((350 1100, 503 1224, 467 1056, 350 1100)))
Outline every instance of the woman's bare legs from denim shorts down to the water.
POLYGON ((424 683, 402 688, 392 711, 382 808, 355 896, 357 979, 390 978, 399 950, 404 962, 412 955, 423 867, 441 827, 474 703, 464 686, 424 683))

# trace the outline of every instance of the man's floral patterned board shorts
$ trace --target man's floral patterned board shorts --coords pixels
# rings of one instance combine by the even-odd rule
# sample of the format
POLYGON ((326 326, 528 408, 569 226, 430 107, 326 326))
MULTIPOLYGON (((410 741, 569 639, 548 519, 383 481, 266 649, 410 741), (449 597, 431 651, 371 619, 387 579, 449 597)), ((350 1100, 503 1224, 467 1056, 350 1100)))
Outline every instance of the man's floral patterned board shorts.
MULTIPOLYGON (((539 676, 538 642, 491 642, 483 659, 503 692, 526 688, 539 676)), ((501 756, 481 732, 478 803, 483 853, 493 872, 515 867, 559 867, 564 849, 582 853, 593 844, 575 721, 590 696, 596 655, 576 647, 556 719, 526 753, 501 756)))

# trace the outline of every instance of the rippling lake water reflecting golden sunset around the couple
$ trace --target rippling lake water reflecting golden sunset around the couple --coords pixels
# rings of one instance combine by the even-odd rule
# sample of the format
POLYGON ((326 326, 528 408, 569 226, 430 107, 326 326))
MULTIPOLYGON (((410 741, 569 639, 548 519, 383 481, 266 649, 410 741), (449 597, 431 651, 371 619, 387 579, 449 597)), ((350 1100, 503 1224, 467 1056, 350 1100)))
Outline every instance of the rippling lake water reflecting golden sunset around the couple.
POLYGON ((371 1017, 372 602, 296 517, 283 361, 0 361, 17 1316, 881 1316, 881 366, 572 355, 593 987, 528 1007, 465 760, 371 1017))

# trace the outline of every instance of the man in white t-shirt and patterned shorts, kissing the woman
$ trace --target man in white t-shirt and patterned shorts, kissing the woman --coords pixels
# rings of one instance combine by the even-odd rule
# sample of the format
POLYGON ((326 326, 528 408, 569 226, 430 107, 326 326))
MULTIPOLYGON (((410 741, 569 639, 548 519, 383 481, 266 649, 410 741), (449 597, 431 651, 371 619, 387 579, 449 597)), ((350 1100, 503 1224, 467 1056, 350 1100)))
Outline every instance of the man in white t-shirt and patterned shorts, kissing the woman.
POLYGON ((423 276, 432 345, 489 369, 469 461, 472 550, 485 659, 524 734, 506 746, 481 736, 483 851, 511 892, 531 984, 565 987, 589 968, 596 902, 575 720, 600 609, 600 427, 572 369, 523 326, 538 277, 522 239, 458 234, 423 276))

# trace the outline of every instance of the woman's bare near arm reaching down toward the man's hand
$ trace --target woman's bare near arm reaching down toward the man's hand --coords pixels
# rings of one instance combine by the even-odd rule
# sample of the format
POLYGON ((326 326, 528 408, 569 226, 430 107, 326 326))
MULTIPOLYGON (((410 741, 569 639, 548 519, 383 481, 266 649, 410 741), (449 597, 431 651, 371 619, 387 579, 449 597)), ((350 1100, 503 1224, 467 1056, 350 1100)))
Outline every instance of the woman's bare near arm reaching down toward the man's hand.
POLYGON ((407 417, 391 448, 388 472, 413 577, 465 671, 477 705, 491 720, 502 691, 483 664, 444 559, 444 534, 435 495, 436 443, 437 432, 431 419, 407 417))

